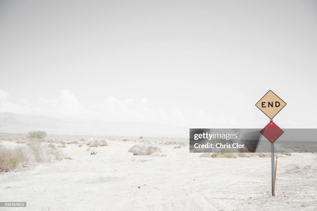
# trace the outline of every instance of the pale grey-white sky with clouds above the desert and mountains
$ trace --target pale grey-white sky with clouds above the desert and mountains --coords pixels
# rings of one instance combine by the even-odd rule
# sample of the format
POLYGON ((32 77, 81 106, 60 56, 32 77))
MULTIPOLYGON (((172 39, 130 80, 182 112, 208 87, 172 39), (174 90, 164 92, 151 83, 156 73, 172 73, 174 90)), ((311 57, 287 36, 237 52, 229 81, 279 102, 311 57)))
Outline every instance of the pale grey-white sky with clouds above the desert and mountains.
POLYGON ((317 128, 316 1, 0 1, 0 112, 317 128))

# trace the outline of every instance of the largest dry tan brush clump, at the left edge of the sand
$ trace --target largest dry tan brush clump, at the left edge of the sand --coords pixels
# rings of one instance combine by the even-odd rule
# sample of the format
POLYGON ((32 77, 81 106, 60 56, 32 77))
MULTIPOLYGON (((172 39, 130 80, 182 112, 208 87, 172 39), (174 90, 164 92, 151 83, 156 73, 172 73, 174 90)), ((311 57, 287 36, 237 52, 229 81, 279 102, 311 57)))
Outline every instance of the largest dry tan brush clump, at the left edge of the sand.
POLYGON ((0 171, 12 171, 32 163, 51 163, 62 159, 64 154, 60 150, 41 143, 32 143, 15 149, 1 148, 0 171))

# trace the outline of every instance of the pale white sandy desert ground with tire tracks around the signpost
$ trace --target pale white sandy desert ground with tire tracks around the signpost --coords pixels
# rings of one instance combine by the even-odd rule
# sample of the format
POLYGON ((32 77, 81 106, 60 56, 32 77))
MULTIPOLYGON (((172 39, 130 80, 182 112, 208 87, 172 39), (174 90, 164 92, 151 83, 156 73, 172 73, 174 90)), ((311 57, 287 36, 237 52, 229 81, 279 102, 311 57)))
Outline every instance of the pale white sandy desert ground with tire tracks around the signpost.
POLYGON ((1 173, 0 201, 27 208, 0 210, 317 210, 316 153, 278 158, 272 197, 271 158, 203 158, 174 145, 160 146, 166 157, 133 156, 135 142, 107 142, 96 155, 71 144, 61 149, 72 160, 1 173))

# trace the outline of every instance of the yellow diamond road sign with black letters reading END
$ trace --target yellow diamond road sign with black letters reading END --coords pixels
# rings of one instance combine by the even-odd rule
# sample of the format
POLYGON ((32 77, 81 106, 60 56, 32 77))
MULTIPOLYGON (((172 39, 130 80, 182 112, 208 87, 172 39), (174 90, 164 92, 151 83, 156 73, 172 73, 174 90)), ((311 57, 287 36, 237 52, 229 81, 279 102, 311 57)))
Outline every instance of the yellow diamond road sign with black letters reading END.
POLYGON ((270 119, 273 119, 273 117, 275 117, 275 115, 284 108, 285 105, 286 103, 271 90, 269 90, 268 93, 266 93, 261 100, 256 103, 256 107, 258 107, 270 119))

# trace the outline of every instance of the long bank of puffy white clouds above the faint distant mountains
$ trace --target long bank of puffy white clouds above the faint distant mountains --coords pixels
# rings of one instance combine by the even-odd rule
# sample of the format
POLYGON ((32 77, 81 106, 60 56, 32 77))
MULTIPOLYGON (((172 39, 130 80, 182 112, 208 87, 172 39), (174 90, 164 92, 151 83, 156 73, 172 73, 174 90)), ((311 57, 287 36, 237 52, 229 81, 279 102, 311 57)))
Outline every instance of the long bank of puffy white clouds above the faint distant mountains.
POLYGON ((25 99, 22 104, 9 102, 8 93, 0 90, 0 112, 19 114, 49 115, 62 118, 99 119, 104 121, 137 121, 160 124, 184 125, 185 118, 180 109, 153 108, 148 106, 148 99, 132 98, 118 100, 109 96, 100 103, 83 105, 74 94, 62 90, 56 99, 38 98, 37 107, 25 99))

